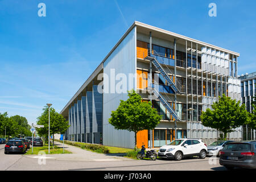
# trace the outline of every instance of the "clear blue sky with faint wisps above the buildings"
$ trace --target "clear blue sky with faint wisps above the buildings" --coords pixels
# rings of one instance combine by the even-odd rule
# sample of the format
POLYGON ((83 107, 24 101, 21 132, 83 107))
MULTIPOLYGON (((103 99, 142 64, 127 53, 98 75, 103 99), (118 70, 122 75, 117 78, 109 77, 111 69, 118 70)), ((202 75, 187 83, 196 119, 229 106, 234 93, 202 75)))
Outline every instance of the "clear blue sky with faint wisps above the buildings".
POLYGON ((134 20, 241 53, 256 71, 256 1, 0 0, 0 113, 61 111, 134 20), (46 4, 46 17, 38 4, 46 4), (210 17, 209 3, 217 17, 210 17))

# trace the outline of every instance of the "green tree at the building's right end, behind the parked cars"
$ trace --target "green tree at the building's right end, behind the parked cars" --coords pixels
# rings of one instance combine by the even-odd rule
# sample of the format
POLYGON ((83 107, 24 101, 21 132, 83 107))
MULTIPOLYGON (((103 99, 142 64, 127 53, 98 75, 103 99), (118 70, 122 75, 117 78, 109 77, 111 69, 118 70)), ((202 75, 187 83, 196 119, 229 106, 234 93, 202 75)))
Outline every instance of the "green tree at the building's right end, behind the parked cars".
POLYGON ((240 106, 240 101, 232 100, 225 94, 214 102, 212 109, 209 108, 201 115, 201 121, 204 126, 217 129, 224 133, 226 140, 227 134, 233 129, 250 122, 250 113, 245 109, 245 105, 240 106))

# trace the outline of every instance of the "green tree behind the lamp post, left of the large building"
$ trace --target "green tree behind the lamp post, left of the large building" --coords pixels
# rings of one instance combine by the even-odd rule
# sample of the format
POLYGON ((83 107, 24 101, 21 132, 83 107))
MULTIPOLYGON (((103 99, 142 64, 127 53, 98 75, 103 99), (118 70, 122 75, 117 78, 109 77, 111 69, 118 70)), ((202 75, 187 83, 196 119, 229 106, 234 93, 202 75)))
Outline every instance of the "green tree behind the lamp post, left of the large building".
POLYGON ((53 135, 53 147, 54 147, 54 134, 63 134, 67 131, 69 125, 68 121, 63 117, 63 115, 57 113, 53 107, 45 106, 43 108, 43 113, 37 118, 36 122, 38 125, 44 125, 42 128, 36 129, 38 134, 42 136, 48 137, 48 128, 49 128, 49 113, 50 113, 50 134, 53 135))

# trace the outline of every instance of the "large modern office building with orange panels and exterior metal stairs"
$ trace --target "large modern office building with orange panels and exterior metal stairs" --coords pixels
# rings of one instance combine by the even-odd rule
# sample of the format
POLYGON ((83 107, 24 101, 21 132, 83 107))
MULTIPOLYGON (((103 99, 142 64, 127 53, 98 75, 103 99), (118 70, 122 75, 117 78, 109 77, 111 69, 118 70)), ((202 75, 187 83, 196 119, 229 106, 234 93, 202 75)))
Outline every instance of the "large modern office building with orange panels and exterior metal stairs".
MULTIPOLYGON (((66 139, 134 148, 134 133, 115 130, 108 122, 120 100, 127 100, 127 90, 134 89, 162 115, 154 130, 137 134, 137 147, 142 142, 160 147, 175 138, 201 138, 208 144, 219 133, 201 125, 201 112, 222 94, 240 100, 239 56, 134 22, 61 110, 71 125, 66 139)), ((228 138, 241 140, 241 130, 238 127, 228 138)))

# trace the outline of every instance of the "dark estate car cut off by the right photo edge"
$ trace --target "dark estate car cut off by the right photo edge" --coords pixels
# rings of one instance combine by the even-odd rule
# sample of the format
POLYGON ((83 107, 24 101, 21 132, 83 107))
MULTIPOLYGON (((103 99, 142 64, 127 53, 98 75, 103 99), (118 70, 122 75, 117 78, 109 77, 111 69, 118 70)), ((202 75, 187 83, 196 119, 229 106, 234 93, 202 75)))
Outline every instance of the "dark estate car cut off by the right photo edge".
POLYGON ((256 168, 255 153, 256 141, 231 142, 220 151, 220 164, 227 169, 256 168))

